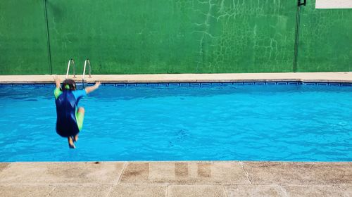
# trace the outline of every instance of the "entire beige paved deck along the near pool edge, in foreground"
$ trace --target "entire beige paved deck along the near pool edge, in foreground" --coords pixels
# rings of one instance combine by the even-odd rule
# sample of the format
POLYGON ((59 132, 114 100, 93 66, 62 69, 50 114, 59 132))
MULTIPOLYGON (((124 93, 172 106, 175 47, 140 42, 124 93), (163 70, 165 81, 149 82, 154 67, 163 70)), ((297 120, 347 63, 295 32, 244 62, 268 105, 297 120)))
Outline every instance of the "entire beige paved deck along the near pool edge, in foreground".
POLYGON ((352 196, 352 163, 0 163, 0 196, 352 196))

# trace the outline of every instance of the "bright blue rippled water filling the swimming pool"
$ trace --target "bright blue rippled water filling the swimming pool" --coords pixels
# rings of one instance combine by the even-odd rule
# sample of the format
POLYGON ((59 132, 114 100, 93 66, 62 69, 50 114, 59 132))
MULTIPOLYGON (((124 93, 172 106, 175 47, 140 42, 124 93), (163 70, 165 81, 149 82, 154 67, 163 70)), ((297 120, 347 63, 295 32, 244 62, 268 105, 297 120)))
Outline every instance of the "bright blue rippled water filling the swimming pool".
POLYGON ((0 162, 352 161, 352 87, 102 86, 76 149, 56 134, 54 86, 0 86, 0 162))

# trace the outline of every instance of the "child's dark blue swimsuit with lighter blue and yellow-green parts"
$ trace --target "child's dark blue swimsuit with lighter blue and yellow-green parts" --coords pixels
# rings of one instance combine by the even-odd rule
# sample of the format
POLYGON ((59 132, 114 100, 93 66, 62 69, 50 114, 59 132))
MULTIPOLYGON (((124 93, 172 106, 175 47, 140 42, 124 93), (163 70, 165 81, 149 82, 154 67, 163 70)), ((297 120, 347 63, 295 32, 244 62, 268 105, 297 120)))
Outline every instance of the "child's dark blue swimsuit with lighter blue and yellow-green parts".
POLYGON ((77 113, 77 105, 80 98, 86 96, 84 89, 64 90, 56 88, 54 90, 56 103, 56 132, 63 137, 75 136, 83 126, 84 116, 77 113))

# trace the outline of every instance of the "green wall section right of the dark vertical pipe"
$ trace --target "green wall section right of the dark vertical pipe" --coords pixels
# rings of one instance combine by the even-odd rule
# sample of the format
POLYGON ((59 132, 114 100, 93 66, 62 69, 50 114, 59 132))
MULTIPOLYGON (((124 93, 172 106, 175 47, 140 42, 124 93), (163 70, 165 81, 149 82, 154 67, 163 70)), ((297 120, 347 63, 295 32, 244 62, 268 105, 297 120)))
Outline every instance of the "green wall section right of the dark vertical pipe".
POLYGON ((352 71, 352 9, 301 9, 298 72, 352 71))

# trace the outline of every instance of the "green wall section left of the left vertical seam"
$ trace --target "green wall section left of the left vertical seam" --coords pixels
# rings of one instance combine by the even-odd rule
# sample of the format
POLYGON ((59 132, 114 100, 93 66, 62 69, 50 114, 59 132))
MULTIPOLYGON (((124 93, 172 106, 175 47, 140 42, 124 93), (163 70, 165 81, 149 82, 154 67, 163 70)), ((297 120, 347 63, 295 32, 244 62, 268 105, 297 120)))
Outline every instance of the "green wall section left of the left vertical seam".
POLYGON ((50 72, 42 3, 0 1, 0 75, 50 72))

